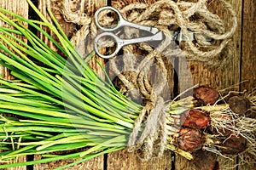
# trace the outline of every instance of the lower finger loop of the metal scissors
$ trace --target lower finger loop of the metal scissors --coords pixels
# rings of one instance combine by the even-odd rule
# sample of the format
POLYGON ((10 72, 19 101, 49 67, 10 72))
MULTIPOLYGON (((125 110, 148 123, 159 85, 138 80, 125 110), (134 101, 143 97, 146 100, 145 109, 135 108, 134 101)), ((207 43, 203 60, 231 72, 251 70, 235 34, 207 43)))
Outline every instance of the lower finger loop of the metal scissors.
POLYGON ((94 50, 96 52, 96 54, 98 54, 99 57, 102 57, 103 59, 110 59, 113 58, 116 54, 119 53, 119 50, 123 47, 124 41, 122 41, 119 37, 117 37, 116 35, 114 35, 112 32, 103 32, 102 34, 98 35, 95 40, 94 40, 94 50), (102 38, 102 37, 112 37, 114 42, 116 42, 117 47, 115 48, 113 54, 109 54, 109 55, 104 55, 101 54, 98 48, 98 41, 102 38))

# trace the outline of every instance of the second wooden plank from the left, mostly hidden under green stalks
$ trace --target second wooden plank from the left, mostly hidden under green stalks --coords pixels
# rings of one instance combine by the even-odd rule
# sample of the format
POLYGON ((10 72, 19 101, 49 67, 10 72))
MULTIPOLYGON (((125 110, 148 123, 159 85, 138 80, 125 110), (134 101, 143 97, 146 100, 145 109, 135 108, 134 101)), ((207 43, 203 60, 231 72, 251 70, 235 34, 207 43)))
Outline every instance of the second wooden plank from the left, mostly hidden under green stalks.
MULTIPOLYGON (((47 0, 38 0, 38 8, 39 10, 44 14, 48 15, 46 11, 46 5, 47 5, 47 0)), ((78 26, 72 21, 67 22, 63 14, 61 14, 62 11, 62 6, 61 4, 64 3, 64 0, 61 1, 55 1, 55 0, 50 0, 51 6, 53 13, 55 15, 56 20, 60 23, 61 28, 63 31, 66 33, 67 37, 72 38, 73 34, 75 34, 76 31, 78 31, 78 26)), ((79 10, 81 0, 69 0, 68 1, 68 8, 70 8, 73 12, 76 12, 79 10)), ((94 13, 97 8, 100 8, 102 6, 105 6, 107 4, 107 0, 85 0, 84 2, 84 13, 94 13)), ((49 17, 49 16, 48 16, 49 17)), ((42 39, 44 37, 41 36, 42 39)), ((44 40, 44 42, 48 43, 51 48, 55 48, 52 44, 47 42, 47 39, 44 40)), ((103 64, 103 59, 99 59, 102 64, 103 64)), ((101 68, 96 64, 94 59, 91 59, 90 61, 90 66, 96 71, 98 74, 102 74, 101 68)), ((34 156, 35 160, 41 159, 41 156, 34 156)), ((53 169, 55 167, 60 167, 64 166, 67 163, 71 163, 73 161, 78 161, 79 159, 69 159, 69 160, 63 160, 63 161, 54 161, 54 162, 49 162, 49 163, 44 163, 44 164, 38 164, 34 166, 35 170, 43 170, 43 169, 53 169)), ((69 167, 67 169, 84 169, 84 170, 102 170, 104 166, 104 156, 98 156, 94 159, 91 159, 90 161, 84 161, 82 163, 79 163, 78 165, 74 167, 69 167)))

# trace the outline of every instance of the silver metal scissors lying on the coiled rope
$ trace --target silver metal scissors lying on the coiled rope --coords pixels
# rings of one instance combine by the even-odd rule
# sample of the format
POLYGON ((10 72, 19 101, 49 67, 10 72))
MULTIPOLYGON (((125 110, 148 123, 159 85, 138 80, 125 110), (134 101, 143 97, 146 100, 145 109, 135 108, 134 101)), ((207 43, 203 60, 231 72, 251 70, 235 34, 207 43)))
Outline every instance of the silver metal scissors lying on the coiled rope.
MULTIPOLYGON (((94 41, 94 49, 96 54, 98 54, 100 57, 102 57, 103 59, 109 59, 114 57, 116 54, 118 54, 119 50, 128 44, 132 44, 132 43, 138 43, 138 42, 150 42, 150 41, 160 41, 164 38, 164 34, 162 31, 160 31, 159 29, 153 27, 153 26, 142 26, 142 25, 138 25, 132 22, 129 22, 127 20, 125 20, 122 15, 119 13, 119 11, 116 8, 110 7, 110 6, 106 6, 106 7, 102 7, 99 8, 96 13, 95 13, 95 23, 96 26, 101 29, 102 31, 104 31, 103 33, 99 34, 94 41), (115 14, 117 14, 118 16, 118 24, 114 27, 108 28, 108 27, 104 27, 101 26, 99 21, 98 21, 98 15, 103 11, 109 9, 111 11, 113 11, 115 14), (139 37, 139 38, 132 38, 132 39, 122 39, 119 38, 118 36, 116 36, 113 31, 118 30, 120 27, 123 26, 131 26, 134 28, 137 28, 139 30, 143 30, 143 31, 148 31, 151 32, 153 35, 152 36, 148 36, 148 37, 139 37), (114 42, 116 42, 116 48, 114 50, 114 52, 112 54, 109 55, 104 55, 101 54, 99 52, 98 49, 98 42, 102 37, 111 37, 113 39, 114 42)), ((182 34, 182 32, 180 31, 171 31, 172 34, 172 40, 174 41, 186 41, 186 37, 184 37, 184 35, 182 34)), ((190 40, 195 40, 194 38, 194 32, 189 31, 189 39, 190 40)))

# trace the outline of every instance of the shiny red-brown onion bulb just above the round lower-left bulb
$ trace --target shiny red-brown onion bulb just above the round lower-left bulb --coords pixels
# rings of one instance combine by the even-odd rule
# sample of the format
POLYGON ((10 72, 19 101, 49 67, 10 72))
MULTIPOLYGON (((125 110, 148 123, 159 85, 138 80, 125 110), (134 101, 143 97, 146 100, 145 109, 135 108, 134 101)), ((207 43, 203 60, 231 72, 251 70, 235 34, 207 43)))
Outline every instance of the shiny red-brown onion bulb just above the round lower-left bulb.
POLYGON ((190 109, 182 115, 183 126, 193 128, 206 128, 210 124, 210 117, 200 110, 190 109))

